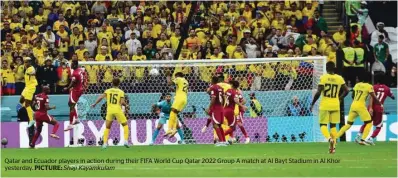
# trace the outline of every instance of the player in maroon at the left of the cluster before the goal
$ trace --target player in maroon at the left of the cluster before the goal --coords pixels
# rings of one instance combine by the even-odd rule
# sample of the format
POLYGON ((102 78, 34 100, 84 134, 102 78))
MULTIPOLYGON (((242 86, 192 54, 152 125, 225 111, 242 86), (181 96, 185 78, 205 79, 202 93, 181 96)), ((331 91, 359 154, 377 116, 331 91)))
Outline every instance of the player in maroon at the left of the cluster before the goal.
POLYGON ((210 118, 207 120, 206 126, 202 129, 202 132, 204 132, 208 125, 213 122, 213 128, 219 139, 216 146, 226 146, 224 130, 221 127, 224 120, 224 90, 217 85, 217 76, 212 77, 211 83, 212 85, 207 89, 207 92, 210 95, 210 104, 209 108, 205 110, 210 118))

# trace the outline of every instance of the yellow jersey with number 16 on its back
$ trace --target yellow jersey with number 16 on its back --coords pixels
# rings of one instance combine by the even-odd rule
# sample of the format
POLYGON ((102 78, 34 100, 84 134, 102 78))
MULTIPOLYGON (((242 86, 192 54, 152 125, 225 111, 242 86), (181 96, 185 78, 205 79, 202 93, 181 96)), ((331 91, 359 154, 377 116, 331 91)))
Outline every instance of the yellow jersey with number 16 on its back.
POLYGON ((107 112, 122 112, 121 99, 124 98, 124 91, 119 88, 105 90, 107 112))

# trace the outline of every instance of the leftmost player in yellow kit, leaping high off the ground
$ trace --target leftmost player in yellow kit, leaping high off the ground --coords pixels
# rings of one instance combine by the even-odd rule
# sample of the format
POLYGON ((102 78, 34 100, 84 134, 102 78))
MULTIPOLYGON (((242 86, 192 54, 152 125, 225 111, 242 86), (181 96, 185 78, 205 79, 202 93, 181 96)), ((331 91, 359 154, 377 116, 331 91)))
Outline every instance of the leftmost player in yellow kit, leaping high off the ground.
POLYGON ((29 117, 28 127, 31 127, 35 123, 33 119, 33 109, 31 105, 32 105, 33 95, 36 92, 36 86, 37 86, 36 70, 32 66, 32 59, 30 57, 25 58, 24 63, 26 69, 24 75, 25 88, 22 91, 21 98, 19 99, 19 104, 22 105, 22 107, 26 108, 29 117))

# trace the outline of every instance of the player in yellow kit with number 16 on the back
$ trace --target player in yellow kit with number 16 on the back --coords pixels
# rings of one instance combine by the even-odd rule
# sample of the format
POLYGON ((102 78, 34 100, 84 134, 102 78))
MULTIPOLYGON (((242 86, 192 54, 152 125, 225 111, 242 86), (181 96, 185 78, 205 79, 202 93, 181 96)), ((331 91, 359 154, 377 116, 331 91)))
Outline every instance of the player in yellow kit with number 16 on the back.
POLYGON ((112 88, 105 90, 104 94, 98 97, 93 105, 94 108, 103 98, 106 98, 106 128, 104 132, 104 144, 102 145, 103 149, 106 149, 108 146, 108 136, 109 131, 112 126, 113 118, 116 117, 116 120, 123 126, 124 132, 124 146, 126 148, 129 147, 129 127, 127 125, 127 118, 124 115, 122 106, 126 106, 125 96, 123 90, 119 89, 120 79, 114 78, 112 80, 112 88))

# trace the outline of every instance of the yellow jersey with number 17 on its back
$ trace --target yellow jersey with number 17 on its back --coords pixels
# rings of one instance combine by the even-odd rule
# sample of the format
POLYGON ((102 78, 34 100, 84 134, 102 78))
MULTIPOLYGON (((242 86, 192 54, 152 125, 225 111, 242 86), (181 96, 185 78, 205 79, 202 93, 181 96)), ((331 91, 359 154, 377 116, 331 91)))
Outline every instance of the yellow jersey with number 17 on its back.
POLYGON ((357 83, 354 86, 354 100, 351 108, 366 109, 366 100, 370 93, 373 93, 373 86, 368 83, 357 83))

